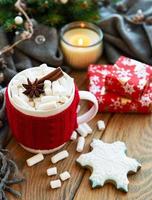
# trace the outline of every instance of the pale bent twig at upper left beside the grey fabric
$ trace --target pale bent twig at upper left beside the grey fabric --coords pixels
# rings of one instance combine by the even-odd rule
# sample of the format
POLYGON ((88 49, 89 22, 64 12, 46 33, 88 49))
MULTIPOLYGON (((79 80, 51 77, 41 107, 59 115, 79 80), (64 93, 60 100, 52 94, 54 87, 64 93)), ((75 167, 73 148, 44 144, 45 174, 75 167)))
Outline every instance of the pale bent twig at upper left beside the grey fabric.
POLYGON ((24 36, 21 37, 20 40, 16 41, 14 44, 12 44, 11 46, 5 46, 1 51, 0 51, 0 56, 2 54, 5 54, 9 51, 11 51, 15 46, 17 46, 19 43, 21 43, 22 41, 24 40, 27 40, 27 39, 30 39, 33 35, 33 24, 32 24, 32 21, 30 20, 29 16, 27 15, 27 13, 25 12, 25 10, 22 8, 22 2, 21 0, 17 0, 16 3, 15 3, 15 7, 17 8, 17 10, 19 12, 21 12, 25 19, 27 20, 27 23, 28 23, 28 26, 26 26, 26 31, 24 31, 24 36), (26 34, 25 34, 26 33, 26 34))

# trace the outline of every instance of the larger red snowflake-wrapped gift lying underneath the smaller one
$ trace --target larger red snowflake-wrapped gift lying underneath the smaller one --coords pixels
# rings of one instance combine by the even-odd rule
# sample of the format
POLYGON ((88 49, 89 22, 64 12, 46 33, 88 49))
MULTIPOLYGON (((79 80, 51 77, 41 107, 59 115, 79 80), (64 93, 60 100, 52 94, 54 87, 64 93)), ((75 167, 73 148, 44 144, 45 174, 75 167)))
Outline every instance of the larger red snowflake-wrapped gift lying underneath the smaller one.
POLYGON ((111 74, 112 65, 90 65, 88 68, 89 90, 99 102, 99 112, 150 113, 152 105, 152 83, 144 90, 140 99, 131 100, 105 90, 106 76, 111 74))

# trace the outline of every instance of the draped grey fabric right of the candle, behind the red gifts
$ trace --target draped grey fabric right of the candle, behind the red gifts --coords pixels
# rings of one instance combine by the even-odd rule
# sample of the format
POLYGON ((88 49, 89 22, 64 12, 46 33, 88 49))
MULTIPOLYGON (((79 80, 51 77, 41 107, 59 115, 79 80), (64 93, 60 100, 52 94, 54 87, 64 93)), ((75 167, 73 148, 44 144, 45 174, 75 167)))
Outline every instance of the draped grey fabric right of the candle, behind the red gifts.
POLYGON ((120 55, 126 55, 152 65, 152 24, 132 22, 139 10, 145 18, 152 16, 152 0, 128 0, 124 5, 126 12, 118 12, 115 5, 101 8, 99 26, 107 59, 115 63, 120 55))

